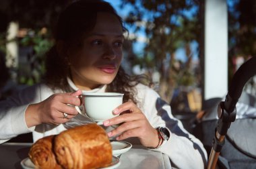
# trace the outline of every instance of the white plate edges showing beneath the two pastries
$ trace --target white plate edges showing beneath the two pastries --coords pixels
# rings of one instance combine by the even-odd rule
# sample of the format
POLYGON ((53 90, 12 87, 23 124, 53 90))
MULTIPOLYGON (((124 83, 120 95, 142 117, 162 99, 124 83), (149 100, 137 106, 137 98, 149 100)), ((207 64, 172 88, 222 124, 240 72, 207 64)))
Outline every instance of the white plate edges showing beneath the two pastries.
MULTIPOLYGON (((20 164, 22 165, 22 168, 24 168, 24 169, 35 169, 35 166, 32 163, 32 161, 30 160, 30 158, 25 158, 24 160, 22 160, 22 162, 20 162, 20 164)), ((104 167, 101 169, 114 169, 114 168, 117 168, 118 166, 120 166, 120 160, 119 160, 119 158, 113 156, 110 166, 104 167)))

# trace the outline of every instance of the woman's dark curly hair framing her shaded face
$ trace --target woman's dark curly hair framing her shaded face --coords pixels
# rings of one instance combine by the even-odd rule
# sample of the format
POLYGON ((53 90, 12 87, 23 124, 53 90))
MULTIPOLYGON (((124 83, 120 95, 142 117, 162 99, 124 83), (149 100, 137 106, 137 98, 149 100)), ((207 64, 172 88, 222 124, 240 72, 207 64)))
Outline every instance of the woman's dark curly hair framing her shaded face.
MULTIPOLYGON (((127 29, 123 25, 123 20, 117 14, 115 9, 107 2, 101 0, 80 0, 71 3, 59 16, 57 22, 57 30, 55 30, 55 40, 61 40, 66 45, 81 44, 84 34, 94 28, 98 12, 107 12, 115 15, 122 27, 123 32, 127 29)), ((44 80, 51 89, 62 89, 63 91, 71 91, 67 83, 67 76, 70 76, 69 64, 63 54, 57 52, 57 46, 53 46, 46 54, 46 74, 44 80)), ((108 84, 107 92, 124 93, 123 101, 133 101, 135 99, 135 85, 139 83, 141 76, 129 76, 120 66, 117 76, 108 84)))

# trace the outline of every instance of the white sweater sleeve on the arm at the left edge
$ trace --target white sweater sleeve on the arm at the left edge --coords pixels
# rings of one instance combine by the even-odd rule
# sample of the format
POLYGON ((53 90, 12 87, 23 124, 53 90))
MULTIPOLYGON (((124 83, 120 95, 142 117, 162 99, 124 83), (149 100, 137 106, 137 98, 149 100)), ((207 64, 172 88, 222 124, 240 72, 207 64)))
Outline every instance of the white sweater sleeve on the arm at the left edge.
POLYGON ((28 87, 0 102, 0 144, 22 133, 34 131, 26 125, 25 111, 29 104, 40 101, 40 84, 28 87))

